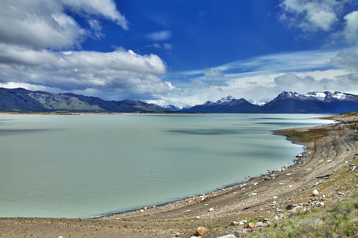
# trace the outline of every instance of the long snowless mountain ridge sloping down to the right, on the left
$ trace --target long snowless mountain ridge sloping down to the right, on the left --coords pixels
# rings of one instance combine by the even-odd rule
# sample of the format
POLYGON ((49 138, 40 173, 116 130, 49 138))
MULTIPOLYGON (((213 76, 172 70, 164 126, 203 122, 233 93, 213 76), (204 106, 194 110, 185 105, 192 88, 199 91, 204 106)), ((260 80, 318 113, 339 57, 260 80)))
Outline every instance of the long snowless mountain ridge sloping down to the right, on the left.
POLYGON ((24 88, 0 88, 0 110, 9 112, 170 112, 135 100, 106 101, 75 93, 49 93, 24 88))

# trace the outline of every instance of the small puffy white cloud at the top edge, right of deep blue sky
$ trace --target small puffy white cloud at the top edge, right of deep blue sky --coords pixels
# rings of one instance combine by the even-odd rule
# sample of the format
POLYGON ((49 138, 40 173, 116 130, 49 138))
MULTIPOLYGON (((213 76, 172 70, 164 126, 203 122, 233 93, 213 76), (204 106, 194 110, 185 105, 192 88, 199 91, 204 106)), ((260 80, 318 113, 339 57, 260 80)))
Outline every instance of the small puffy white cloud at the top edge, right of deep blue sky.
POLYGON ((350 0, 283 0, 281 20, 290 27, 312 32, 317 30, 330 31, 339 22, 345 4, 350 0))

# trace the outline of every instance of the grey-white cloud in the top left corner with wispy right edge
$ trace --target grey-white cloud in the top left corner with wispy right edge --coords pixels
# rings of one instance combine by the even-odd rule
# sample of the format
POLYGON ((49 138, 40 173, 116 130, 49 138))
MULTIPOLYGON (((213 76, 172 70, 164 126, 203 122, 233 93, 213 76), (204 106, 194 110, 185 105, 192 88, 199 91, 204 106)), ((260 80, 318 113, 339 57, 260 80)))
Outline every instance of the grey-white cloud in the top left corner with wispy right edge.
POLYGON ((81 27, 65 9, 86 13, 97 37, 100 25, 90 16, 97 15, 117 22, 127 29, 127 20, 115 9, 113 1, 0 1, 0 41, 30 48, 80 48, 90 32, 81 27))

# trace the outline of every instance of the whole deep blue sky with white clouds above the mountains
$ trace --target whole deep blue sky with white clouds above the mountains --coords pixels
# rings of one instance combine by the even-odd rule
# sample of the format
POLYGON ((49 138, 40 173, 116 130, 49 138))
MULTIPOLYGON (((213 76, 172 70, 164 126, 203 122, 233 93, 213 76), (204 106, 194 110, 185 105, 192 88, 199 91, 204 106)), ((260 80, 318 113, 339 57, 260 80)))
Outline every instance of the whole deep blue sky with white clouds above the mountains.
POLYGON ((358 94, 358 1, 1 0, 0 87, 177 107, 358 94))

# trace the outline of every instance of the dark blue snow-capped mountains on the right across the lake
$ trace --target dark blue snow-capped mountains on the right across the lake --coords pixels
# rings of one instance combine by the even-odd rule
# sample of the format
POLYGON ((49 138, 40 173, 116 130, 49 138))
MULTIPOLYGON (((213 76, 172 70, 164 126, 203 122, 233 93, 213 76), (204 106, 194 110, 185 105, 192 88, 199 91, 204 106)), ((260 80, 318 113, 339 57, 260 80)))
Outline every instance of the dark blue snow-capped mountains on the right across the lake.
POLYGON ((301 114, 338 114, 358 110, 358 95, 340 92, 310 92, 299 94, 282 92, 274 100, 262 106, 249 103, 243 98, 231 96, 210 101, 203 105, 195 105, 183 109, 184 112, 216 112, 216 113, 301 113, 301 114))

